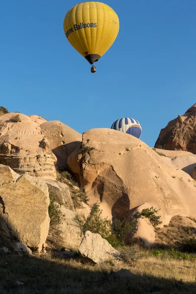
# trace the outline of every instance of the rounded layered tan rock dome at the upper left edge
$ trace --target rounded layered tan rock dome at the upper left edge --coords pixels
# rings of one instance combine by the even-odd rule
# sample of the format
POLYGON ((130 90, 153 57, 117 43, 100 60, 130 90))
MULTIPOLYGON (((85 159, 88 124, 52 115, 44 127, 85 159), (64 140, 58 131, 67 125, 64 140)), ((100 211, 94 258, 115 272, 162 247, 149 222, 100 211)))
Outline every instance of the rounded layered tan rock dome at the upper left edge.
POLYGON ((0 163, 16 172, 56 177, 48 140, 39 125, 21 113, 0 116, 0 163))

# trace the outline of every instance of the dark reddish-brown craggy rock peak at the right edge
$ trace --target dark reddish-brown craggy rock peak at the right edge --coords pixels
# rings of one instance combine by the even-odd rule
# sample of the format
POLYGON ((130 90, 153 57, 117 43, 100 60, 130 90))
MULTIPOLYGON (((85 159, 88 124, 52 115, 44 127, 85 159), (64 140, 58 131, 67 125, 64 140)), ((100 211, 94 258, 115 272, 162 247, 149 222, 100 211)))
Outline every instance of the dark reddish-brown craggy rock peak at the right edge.
POLYGON ((196 154, 196 104, 161 130, 154 147, 196 154))

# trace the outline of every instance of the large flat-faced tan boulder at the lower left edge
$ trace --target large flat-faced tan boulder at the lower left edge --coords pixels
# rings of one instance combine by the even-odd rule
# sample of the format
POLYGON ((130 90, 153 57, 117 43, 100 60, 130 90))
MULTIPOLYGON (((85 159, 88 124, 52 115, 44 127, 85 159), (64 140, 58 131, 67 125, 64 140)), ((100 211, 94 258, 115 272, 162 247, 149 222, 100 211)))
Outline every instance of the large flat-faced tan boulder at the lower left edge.
POLYGON ((42 250, 49 232, 49 192, 40 179, 0 166, 0 235, 42 250), (6 170, 5 170, 6 169, 6 170), (8 175, 9 170, 9 175, 8 175))

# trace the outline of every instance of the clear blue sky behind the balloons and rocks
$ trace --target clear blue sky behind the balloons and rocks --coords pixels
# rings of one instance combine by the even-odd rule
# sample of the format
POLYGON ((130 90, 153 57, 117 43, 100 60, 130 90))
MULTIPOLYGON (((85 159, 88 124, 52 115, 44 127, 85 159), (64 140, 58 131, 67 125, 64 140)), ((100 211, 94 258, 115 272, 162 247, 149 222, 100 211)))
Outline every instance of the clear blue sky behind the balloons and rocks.
POLYGON ((161 128, 196 102, 196 1, 107 0, 120 19, 97 73, 67 41, 75 0, 0 4, 0 106, 83 133, 122 117, 153 147, 161 128))

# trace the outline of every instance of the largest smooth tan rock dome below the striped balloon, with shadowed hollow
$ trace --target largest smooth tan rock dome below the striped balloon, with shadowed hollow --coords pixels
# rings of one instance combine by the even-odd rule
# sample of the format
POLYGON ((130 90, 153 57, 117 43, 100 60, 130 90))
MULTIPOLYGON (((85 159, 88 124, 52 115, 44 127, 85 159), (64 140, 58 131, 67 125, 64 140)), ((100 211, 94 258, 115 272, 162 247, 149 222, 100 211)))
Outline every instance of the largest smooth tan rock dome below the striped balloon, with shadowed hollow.
POLYGON ((196 218, 195 181, 141 140, 113 129, 91 129, 83 133, 78 153, 71 155, 70 168, 80 170, 89 204, 101 202, 103 216, 124 219, 150 203, 161 209, 160 226, 175 215, 196 218))

